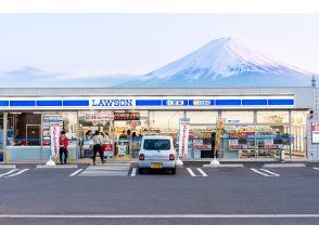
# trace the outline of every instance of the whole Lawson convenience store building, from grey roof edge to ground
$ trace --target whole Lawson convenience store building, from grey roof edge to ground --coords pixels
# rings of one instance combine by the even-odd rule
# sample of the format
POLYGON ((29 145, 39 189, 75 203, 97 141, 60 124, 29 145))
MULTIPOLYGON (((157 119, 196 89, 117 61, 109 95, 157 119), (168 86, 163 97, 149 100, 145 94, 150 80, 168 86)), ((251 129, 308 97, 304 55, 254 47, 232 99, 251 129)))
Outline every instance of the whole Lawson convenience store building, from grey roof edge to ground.
POLYGON ((292 160, 319 159, 312 141, 317 90, 310 87, 29 88, 0 89, 0 149, 11 161, 48 160, 52 120, 66 131, 74 160, 90 158, 89 135, 95 130, 105 135, 105 155, 120 160, 137 158, 145 134, 177 138, 183 117, 190 118, 189 160, 212 157, 210 133, 218 118, 226 119, 220 159, 276 159, 280 147, 292 160), (119 138, 123 132, 126 138, 119 138))

